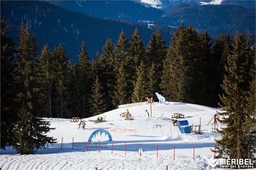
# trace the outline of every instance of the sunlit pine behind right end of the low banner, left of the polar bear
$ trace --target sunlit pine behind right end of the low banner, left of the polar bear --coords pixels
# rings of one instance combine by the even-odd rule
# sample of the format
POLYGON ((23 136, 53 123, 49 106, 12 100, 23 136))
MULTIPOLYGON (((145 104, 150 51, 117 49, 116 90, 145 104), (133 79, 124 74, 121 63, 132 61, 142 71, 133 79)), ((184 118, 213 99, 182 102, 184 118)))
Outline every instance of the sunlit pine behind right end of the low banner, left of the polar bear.
POLYGON ((146 87, 147 87, 147 75, 146 68, 144 67, 143 61, 141 61, 140 66, 137 67, 137 79, 133 82, 133 94, 131 101, 133 103, 143 102, 146 100, 146 87))

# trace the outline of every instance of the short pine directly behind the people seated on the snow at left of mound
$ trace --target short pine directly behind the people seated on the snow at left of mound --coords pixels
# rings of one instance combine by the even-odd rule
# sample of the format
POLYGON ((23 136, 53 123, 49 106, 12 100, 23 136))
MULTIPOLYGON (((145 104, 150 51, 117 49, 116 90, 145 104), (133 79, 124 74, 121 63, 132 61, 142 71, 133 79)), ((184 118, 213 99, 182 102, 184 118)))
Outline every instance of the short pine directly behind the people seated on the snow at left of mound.
POLYGON ((92 116, 100 115, 106 112, 106 98, 104 98, 104 93, 102 93, 103 88, 98 75, 92 84, 92 94, 90 95, 90 113, 92 116))

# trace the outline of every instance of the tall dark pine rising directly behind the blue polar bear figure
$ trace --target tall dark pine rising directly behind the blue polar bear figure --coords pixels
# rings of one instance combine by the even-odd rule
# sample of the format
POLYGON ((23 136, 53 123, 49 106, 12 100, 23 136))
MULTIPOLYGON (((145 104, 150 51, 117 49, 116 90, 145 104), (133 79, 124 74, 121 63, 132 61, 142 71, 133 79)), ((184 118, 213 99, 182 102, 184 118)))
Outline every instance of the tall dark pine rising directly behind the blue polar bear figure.
POLYGON ((156 90, 159 92, 160 82, 161 82, 161 75, 163 69, 163 60, 167 54, 167 48, 165 47, 166 42, 161 35, 161 32, 158 30, 153 33, 151 40, 148 43, 147 51, 146 51, 146 59, 145 59, 145 66, 149 68, 154 62, 156 68, 156 90))

